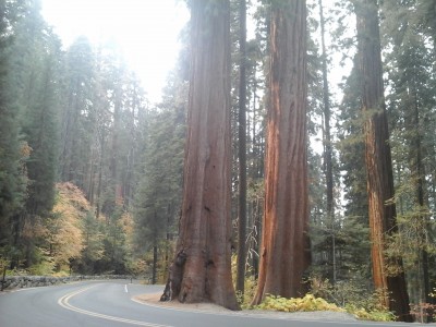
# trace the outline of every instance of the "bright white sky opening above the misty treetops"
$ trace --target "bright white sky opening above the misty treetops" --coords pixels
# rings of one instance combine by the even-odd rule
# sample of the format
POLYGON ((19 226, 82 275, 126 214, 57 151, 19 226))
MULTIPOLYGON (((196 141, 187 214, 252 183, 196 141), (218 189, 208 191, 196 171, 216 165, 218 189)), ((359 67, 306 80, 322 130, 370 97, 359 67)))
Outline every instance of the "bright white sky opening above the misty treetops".
POLYGON ((150 102, 160 100, 190 14, 181 0, 41 0, 43 16, 64 47, 85 35, 93 44, 114 39, 150 102))

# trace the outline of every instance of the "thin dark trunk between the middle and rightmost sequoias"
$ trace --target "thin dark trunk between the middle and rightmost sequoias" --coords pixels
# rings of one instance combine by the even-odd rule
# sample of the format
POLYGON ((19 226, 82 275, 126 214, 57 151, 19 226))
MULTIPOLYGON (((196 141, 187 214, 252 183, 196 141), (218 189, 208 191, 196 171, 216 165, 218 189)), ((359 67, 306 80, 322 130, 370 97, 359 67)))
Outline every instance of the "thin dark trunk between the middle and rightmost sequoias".
POLYGON ((326 175, 327 195, 327 219, 331 227, 331 276, 332 283, 336 283, 336 231, 335 231, 335 201, 334 201, 334 170, 332 170, 332 148, 330 133, 330 95, 328 88, 327 51, 325 44, 325 20, 323 12, 323 0, 319 4, 320 40, 323 50, 323 113, 324 113, 324 165, 326 175))

